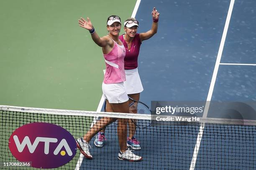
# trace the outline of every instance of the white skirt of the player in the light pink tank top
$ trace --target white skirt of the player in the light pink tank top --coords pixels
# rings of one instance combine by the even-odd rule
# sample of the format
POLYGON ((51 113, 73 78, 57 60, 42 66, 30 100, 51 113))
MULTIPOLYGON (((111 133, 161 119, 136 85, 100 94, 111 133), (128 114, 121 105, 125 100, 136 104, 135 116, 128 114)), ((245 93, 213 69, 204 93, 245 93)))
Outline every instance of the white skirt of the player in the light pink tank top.
POLYGON ((102 92, 109 103, 123 103, 129 100, 123 82, 113 84, 102 82, 102 92))

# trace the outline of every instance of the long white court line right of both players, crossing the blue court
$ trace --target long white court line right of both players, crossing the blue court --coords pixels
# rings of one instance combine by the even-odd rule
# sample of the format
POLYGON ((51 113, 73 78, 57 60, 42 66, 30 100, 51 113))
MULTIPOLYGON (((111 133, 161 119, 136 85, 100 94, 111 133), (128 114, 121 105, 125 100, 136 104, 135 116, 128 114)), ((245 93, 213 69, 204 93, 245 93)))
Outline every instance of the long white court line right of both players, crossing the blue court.
MULTIPOLYGON (((212 99, 212 92, 213 92, 213 89, 214 89, 214 85, 215 85, 215 81, 216 81, 216 77, 217 77, 217 73, 218 73, 218 69, 219 69, 219 65, 220 65, 220 59, 221 59, 221 55, 222 55, 222 52, 223 52, 223 47, 224 47, 226 35, 227 35, 227 32, 228 32, 228 25, 229 25, 229 22, 230 22, 234 2, 235 2, 235 0, 230 1, 230 5, 229 5, 229 9, 228 9, 228 15, 227 15, 227 19, 226 19, 226 22, 225 22, 225 27, 224 27, 223 34, 222 34, 220 47, 219 47, 217 59, 216 59, 216 62, 215 62, 214 71, 213 71, 213 74, 212 74, 212 80, 211 80, 209 92, 208 92, 208 95, 207 95, 207 100, 206 100, 206 103, 205 103, 205 110, 204 110, 204 113, 203 113, 203 116, 202 116, 204 118, 207 117, 209 106, 210 106, 210 101, 212 99)), ((196 164, 196 161, 197 161, 197 154, 198 154, 198 151, 199 151, 199 148, 200 148, 200 143, 201 143, 204 128, 205 128, 205 123, 202 122, 201 126, 199 128, 199 133, 197 135, 197 142, 196 142, 196 145, 195 145, 193 158, 191 160, 189 170, 194 170, 195 169, 195 164, 196 164)))

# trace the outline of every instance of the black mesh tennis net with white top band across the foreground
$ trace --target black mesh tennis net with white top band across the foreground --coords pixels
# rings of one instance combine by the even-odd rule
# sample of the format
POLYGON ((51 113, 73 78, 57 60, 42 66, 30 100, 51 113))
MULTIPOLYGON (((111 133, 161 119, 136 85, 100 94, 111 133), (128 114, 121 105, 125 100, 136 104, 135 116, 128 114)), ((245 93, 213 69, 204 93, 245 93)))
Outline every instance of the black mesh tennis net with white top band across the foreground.
MULTIPOLYGON (((74 139, 78 139, 100 117, 136 120, 152 119, 151 115, 141 114, 55 110, 1 105, 0 115, 0 162, 2 169, 35 169, 26 166, 6 166, 6 163, 18 162, 10 152, 8 142, 12 133, 23 125, 33 122, 55 124, 66 129, 72 134, 74 139)), ((256 168, 256 122, 253 120, 207 119, 202 121, 201 119, 201 121, 194 122, 156 122, 155 120, 151 120, 151 122, 151 125, 146 128, 136 128, 135 136, 140 142, 141 150, 134 150, 133 153, 141 156, 143 158, 142 161, 129 162, 118 160, 120 148, 117 125, 113 123, 106 128, 105 138, 107 140, 105 140, 102 148, 94 145, 95 137, 90 141, 92 160, 84 158, 80 151, 76 150, 74 158, 69 163, 54 169, 251 170, 256 168), (201 134, 202 138, 198 138, 199 134, 201 134)), ((31 140, 31 144, 32 142, 31 140)), ((57 161, 59 160, 53 160, 53 162, 57 161)), ((33 164, 33 162, 31 163, 33 164)))

